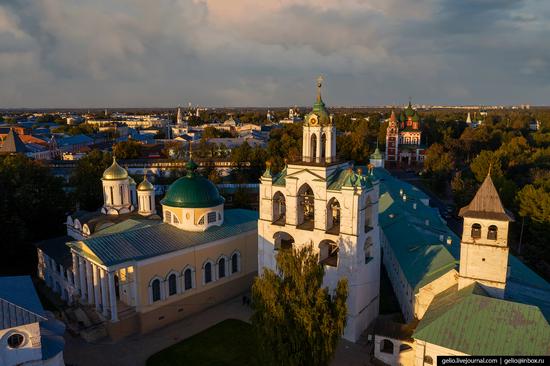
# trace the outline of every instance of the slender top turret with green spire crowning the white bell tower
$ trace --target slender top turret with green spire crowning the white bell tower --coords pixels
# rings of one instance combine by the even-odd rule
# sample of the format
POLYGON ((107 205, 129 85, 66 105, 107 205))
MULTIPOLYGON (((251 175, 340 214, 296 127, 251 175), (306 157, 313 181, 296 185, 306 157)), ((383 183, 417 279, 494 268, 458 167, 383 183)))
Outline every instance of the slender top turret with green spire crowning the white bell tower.
POLYGON ((317 100, 304 117, 302 161, 332 163, 336 161, 336 128, 321 98, 323 77, 317 79, 317 100))

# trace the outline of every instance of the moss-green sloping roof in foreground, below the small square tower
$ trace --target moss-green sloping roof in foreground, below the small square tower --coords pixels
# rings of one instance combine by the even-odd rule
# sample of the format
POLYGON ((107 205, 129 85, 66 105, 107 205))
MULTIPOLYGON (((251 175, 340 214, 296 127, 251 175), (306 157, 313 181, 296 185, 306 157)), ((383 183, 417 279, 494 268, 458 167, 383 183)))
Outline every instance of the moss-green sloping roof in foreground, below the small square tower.
POLYGON ((478 284, 437 295, 413 337, 469 355, 550 354, 550 325, 539 308, 491 298, 478 284))

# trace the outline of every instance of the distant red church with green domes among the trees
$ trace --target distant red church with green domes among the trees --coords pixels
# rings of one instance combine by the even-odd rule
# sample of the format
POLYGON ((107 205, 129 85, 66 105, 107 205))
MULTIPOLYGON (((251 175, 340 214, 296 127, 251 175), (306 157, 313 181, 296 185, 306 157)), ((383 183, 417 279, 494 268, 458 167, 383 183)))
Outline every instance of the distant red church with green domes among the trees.
POLYGON ((393 166, 414 166, 424 161, 420 116, 411 102, 399 116, 392 111, 386 129, 386 162, 393 166))

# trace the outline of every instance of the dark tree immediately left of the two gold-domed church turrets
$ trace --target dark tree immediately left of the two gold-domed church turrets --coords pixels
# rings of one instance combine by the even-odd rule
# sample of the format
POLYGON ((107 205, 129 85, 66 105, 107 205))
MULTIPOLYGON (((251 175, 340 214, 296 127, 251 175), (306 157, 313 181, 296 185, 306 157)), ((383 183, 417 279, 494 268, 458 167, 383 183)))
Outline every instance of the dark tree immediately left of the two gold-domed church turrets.
POLYGON ((92 150, 88 155, 78 160, 70 184, 75 187, 76 202, 84 210, 95 211, 103 202, 101 177, 111 164, 111 155, 99 150, 92 150))

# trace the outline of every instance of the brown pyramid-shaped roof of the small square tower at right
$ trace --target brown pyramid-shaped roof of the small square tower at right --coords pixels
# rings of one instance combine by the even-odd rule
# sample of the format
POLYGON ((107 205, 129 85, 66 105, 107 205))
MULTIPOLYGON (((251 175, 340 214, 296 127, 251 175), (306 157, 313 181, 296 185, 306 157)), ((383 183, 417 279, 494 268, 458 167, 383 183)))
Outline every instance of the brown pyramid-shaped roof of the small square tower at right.
POLYGON ((512 215, 504 209, 497 189, 491 179, 491 174, 487 174, 481 187, 466 207, 460 209, 460 216, 479 219, 514 221, 512 215))

